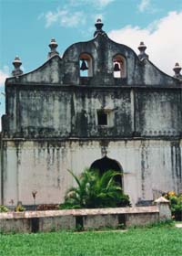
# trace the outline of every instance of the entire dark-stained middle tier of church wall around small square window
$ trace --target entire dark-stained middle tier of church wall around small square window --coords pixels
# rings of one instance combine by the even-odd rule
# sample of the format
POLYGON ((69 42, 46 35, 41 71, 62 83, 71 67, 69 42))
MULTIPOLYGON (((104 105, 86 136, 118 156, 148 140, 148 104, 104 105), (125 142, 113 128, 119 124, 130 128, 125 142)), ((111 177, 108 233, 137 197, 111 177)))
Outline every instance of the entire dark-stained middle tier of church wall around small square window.
POLYGON ((181 89, 6 88, 5 136, 168 137, 182 133, 181 89), (97 124, 97 111, 108 124, 97 124))

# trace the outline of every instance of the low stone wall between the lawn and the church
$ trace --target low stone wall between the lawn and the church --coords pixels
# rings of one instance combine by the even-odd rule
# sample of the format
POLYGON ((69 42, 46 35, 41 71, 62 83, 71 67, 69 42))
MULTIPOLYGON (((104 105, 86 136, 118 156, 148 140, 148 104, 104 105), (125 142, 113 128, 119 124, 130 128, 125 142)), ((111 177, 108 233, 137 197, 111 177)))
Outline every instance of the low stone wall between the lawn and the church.
POLYGON ((2 232, 38 232, 59 229, 103 229, 147 225, 159 220, 159 209, 99 208, 0 213, 2 232))

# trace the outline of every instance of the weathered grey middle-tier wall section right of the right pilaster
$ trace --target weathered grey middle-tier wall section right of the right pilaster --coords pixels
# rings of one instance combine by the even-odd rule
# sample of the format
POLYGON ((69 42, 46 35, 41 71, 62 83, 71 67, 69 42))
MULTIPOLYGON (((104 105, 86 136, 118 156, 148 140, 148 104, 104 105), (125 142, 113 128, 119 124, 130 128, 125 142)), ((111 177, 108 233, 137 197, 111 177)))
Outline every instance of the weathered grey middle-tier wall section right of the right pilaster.
POLYGON ((138 89, 136 130, 142 136, 180 136, 181 90, 138 89))

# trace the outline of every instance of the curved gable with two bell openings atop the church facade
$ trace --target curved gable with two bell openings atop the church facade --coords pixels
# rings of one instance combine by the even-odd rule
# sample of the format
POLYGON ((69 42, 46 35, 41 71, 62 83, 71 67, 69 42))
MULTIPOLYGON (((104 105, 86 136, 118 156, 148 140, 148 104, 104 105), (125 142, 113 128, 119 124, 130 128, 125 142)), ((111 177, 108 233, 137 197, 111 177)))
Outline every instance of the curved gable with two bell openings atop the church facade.
MULTIPOLYGON (((117 63, 117 69, 121 69, 121 63, 117 63)), ((56 55, 38 69, 6 80, 6 84, 17 83, 91 87, 168 87, 181 84, 179 80, 157 69, 148 59, 138 58, 132 48, 111 40, 103 31, 98 31, 92 40, 71 45, 62 59, 56 55), (83 59, 84 56, 90 59, 83 59), (120 76, 115 76, 116 56, 120 56, 120 62, 123 59, 124 70, 120 76), (89 69, 83 75, 80 72, 81 61, 84 61, 85 69, 89 69)))

